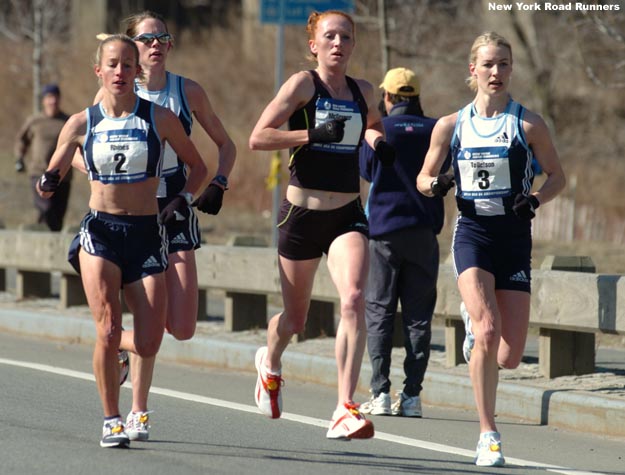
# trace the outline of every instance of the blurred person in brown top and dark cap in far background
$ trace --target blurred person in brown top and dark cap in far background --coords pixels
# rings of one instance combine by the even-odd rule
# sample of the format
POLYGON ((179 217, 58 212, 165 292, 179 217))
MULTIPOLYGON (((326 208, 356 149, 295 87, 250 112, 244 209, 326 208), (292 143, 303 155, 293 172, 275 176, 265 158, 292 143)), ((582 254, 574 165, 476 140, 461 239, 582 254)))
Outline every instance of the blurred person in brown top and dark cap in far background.
POLYGON ((63 124, 69 116, 60 109, 61 91, 56 84, 47 84, 41 90, 42 111, 24 122, 15 141, 15 170, 28 172, 34 195, 35 208, 39 212, 37 222, 48 226, 50 231, 63 228, 63 218, 69 200, 71 170, 59 184, 50 199, 43 199, 36 190, 39 177, 48 169, 48 162, 56 149, 56 142, 63 124), (28 155, 28 160, 24 158, 28 155))

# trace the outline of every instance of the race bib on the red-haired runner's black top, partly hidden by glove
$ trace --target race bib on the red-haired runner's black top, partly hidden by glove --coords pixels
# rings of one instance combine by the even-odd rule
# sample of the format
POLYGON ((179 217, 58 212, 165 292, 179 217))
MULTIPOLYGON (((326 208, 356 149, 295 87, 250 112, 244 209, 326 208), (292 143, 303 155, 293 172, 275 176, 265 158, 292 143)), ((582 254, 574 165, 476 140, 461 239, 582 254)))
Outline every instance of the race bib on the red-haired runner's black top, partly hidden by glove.
POLYGON ((311 150, 334 153, 353 153, 360 145, 362 115, 358 104, 331 97, 320 97, 315 103, 315 127, 333 119, 345 119, 345 135, 336 143, 313 143, 311 150))

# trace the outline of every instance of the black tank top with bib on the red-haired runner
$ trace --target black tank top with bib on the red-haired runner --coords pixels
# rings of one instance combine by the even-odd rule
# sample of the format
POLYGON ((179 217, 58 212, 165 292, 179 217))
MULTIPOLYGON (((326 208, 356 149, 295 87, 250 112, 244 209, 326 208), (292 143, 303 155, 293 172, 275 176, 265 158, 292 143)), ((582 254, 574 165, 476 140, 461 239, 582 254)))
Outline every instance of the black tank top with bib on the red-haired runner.
POLYGON ((358 148, 367 128, 367 102, 351 77, 346 79, 354 100, 345 101, 333 99, 317 72, 309 72, 313 77, 315 93, 304 107, 289 118, 289 129, 312 129, 332 119, 345 117, 345 136, 338 143, 309 143, 292 148, 289 184, 313 190, 358 193, 358 148))

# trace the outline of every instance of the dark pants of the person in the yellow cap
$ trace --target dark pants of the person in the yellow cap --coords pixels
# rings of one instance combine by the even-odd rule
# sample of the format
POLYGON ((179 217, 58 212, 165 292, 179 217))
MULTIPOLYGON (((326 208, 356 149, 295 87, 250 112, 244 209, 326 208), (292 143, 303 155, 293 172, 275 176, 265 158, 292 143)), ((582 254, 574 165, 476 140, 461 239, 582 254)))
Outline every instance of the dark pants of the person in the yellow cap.
POLYGON ((409 228, 369 241, 366 290, 367 349, 374 396, 389 393, 393 330, 401 302, 404 334, 404 393, 418 396, 430 359, 436 305, 439 248, 429 228, 409 228))

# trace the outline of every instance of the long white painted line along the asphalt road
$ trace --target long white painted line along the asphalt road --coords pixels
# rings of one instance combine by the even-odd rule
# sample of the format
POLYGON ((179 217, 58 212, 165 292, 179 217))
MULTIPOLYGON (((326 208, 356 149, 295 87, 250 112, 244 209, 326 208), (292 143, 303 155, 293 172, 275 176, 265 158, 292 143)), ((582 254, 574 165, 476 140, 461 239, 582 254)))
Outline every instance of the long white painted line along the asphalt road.
MULTIPOLYGON (((37 371, 45 371, 47 373, 54 373, 61 376, 69 376, 71 378, 84 379, 87 381, 95 381, 95 377, 89 373, 83 373, 81 371, 73 371, 70 369, 59 368, 56 366, 49 366, 39 363, 28 363, 24 361, 9 360, 0 358, 0 363, 9 366, 18 366, 21 368, 29 368, 37 371)), ((126 384, 129 388, 132 387, 129 383, 126 384)), ((161 396, 172 397, 176 399, 182 399, 184 401, 192 401, 200 404, 208 404, 211 406, 223 407, 224 409, 234 409, 242 412, 251 412, 258 414, 258 408, 256 406, 250 406, 248 404, 239 404, 236 402, 225 401, 223 399, 215 399, 212 397, 198 396, 197 394, 185 393, 182 391, 175 391, 173 389, 159 388, 153 386, 150 389, 151 393, 160 394, 161 396)), ((327 420, 317 419, 315 417, 301 416, 299 414, 291 414, 289 412, 283 412, 282 419, 287 421, 298 422, 300 424, 307 424, 315 427, 328 427, 327 420)), ((416 447, 432 452, 442 452, 446 454, 458 455, 461 457, 468 457, 473 459, 475 452, 473 450, 466 450, 457 447, 451 447, 449 445, 436 444, 434 442, 428 442, 425 440, 411 439, 409 437, 402 437, 399 435, 393 435, 386 432, 375 432, 375 438, 384 440, 386 442, 392 442, 394 444, 407 445, 410 447, 416 447)), ((547 472, 558 473, 561 475, 606 475, 601 472, 587 472, 582 470, 576 470, 573 468, 560 467, 558 465, 545 464, 540 462, 533 462, 531 460, 518 459, 513 457, 506 457, 506 466, 517 465, 520 467, 527 467, 532 469, 544 469, 547 472)))

